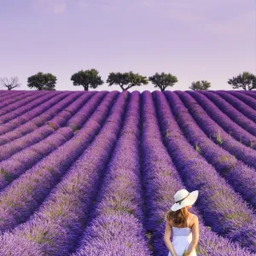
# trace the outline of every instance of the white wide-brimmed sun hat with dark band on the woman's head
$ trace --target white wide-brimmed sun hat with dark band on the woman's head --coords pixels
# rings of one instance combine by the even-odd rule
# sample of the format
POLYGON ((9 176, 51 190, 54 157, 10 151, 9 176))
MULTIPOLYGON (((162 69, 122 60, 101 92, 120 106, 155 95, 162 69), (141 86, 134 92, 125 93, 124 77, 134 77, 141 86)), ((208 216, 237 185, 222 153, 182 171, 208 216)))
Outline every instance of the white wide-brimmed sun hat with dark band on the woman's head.
POLYGON ((177 210, 191 206, 195 203, 198 197, 198 190, 190 192, 186 189, 180 189, 174 195, 175 204, 172 205, 171 210, 176 212, 177 210))

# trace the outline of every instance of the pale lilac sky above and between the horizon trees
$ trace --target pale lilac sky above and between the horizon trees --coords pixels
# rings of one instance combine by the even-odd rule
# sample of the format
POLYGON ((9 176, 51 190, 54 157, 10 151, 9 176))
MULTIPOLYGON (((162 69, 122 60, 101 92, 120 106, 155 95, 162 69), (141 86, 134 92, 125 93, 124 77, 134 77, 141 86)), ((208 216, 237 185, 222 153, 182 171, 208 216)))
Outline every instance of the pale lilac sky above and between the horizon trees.
POLYGON ((256 74, 255 16, 256 0, 0 0, 0 77, 29 90, 29 76, 53 73, 56 90, 84 90, 72 74, 96 68, 104 81, 165 72, 178 79, 168 90, 202 79, 231 90, 228 79, 256 74))

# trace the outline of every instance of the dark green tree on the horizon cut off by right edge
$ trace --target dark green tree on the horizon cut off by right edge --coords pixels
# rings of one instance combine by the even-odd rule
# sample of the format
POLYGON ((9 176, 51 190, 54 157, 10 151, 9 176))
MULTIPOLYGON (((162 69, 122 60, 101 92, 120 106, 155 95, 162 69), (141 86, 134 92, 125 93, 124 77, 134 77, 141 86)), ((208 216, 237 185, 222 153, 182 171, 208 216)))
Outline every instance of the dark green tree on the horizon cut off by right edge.
POLYGON ((243 72, 237 77, 228 80, 229 84, 232 84, 233 89, 242 88, 243 90, 256 89, 256 77, 253 73, 243 72))

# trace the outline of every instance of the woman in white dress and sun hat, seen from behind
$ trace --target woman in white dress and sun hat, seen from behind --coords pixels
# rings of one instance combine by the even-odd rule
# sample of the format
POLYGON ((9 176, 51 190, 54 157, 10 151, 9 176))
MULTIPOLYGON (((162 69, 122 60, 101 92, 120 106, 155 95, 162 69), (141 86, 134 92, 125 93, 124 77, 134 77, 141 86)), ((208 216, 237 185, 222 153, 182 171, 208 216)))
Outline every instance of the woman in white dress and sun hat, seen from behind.
POLYGON ((164 241, 169 250, 168 256, 196 256, 195 247, 199 240, 198 218, 188 209, 197 197, 198 190, 189 193, 188 190, 181 189, 174 195, 175 204, 166 214, 164 241))

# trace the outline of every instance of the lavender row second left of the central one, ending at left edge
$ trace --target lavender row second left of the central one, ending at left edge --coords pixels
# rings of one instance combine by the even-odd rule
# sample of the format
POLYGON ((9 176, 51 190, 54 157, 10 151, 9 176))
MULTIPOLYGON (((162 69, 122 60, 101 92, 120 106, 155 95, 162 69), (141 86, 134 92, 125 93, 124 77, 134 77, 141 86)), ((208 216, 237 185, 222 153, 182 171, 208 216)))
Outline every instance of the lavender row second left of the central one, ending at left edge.
POLYGON ((100 131, 117 91, 108 93, 84 127, 75 136, 27 170, 0 193, 0 230, 15 228, 36 210, 51 189, 100 131))

